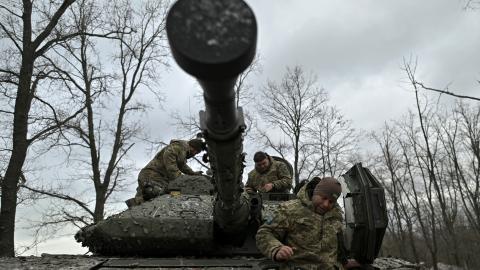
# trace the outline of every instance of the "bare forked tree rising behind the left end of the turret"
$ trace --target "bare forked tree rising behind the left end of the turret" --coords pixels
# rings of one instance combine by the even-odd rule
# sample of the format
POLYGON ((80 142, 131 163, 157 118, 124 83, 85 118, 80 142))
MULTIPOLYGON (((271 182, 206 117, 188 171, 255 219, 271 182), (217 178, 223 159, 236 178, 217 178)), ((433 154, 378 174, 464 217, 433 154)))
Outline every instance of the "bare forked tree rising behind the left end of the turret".
POLYGON ((80 32, 91 32, 90 28, 106 22, 117 33, 110 42, 117 46, 113 58, 118 69, 106 73, 95 48, 103 40, 88 35, 80 35, 57 50, 68 66, 56 66, 57 69, 81 93, 86 107, 84 114, 66 125, 71 133, 67 147, 74 153, 70 163, 79 168, 75 180, 85 180, 93 186, 95 199, 94 208, 90 209, 91 196, 71 194, 72 190, 28 187, 68 203, 54 209, 48 221, 38 224, 40 227, 61 223, 81 227, 104 219, 107 200, 122 188, 131 169, 125 159, 141 130, 135 113, 147 108, 138 96, 150 90, 161 101, 159 91, 151 85, 158 78, 159 67, 166 64, 166 2, 133 6, 129 1, 116 1, 100 8, 94 1, 80 1, 77 8, 72 20, 80 32), (102 18, 100 10, 108 10, 111 17, 102 18))

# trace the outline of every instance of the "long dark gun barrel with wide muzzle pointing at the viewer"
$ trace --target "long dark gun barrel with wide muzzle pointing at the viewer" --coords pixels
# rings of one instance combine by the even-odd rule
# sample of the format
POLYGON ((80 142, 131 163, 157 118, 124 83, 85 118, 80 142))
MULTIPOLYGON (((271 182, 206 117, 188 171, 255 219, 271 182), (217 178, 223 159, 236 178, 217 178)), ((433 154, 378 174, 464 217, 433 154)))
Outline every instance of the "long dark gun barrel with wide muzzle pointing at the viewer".
POLYGON ((215 223, 223 233, 242 233, 249 216, 241 188, 245 123, 234 86, 255 56, 255 16, 239 0, 179 0, 167 16, 167 35, 178 65, 204 90, 200 126, 218 192, 215 223))

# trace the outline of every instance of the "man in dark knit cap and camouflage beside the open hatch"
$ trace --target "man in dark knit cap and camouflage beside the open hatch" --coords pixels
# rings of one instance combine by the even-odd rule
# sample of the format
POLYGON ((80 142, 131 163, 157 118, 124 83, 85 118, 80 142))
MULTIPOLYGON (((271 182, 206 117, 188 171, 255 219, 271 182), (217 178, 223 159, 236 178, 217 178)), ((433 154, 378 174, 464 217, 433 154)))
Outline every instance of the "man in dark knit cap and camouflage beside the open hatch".
POLYGON ((258 249, 280 262, 280 269, 334 270, 358 267, 339 252, 343 242, 342 210, 337 199, 340 183, 332 177, 318 181, 313 191, 305 185, 296 200, 283 203, 272 220, 257 232, 258 249))

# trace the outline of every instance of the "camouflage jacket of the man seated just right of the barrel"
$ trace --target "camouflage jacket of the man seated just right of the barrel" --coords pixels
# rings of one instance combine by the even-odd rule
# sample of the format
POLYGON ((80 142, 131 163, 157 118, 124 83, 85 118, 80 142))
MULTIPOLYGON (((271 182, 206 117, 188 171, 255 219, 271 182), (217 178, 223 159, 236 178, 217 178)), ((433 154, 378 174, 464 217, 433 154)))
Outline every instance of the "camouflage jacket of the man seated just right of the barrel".
POLYGON ((292 188, 292 175, 288 171, 287 165, 281 161, 276 161, 271 157, 270 167, 266 172, 259 173, 253 169, 248 173, 248 180, 245 187, 250 187, 262 191, 261 187, 268 183, 273 183, 273 192, 286 192, 292 188))

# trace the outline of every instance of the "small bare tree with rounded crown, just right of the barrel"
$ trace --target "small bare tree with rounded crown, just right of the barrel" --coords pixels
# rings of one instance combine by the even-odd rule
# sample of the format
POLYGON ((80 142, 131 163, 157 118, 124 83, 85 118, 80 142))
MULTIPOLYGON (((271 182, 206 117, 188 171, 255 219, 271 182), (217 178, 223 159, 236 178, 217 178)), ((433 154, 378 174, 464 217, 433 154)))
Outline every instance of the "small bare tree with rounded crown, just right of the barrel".
POLYGON ((285 153, 286 142, 275 139, 273 129, 278 129, 293 150, 295 185, 300 181, 311 143, 307 128, 322 115, 322 105, 327 101, 325 90, 318 87, 317 78, 306 74, 302 67, 287 67, 280 83, 269 81, 257 99, 259 115, 272 125, 269 132, 260 130, 261 140, 280 155, 285 153))

